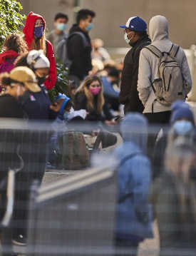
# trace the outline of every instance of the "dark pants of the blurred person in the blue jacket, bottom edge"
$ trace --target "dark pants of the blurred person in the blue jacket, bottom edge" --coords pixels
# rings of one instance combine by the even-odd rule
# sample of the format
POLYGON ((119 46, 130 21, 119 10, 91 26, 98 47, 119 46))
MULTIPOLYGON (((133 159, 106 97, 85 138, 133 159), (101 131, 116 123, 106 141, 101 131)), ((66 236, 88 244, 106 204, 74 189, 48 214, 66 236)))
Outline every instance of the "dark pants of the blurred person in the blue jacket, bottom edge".
POLYGON ((115 256, 136 256, 139 242, 132 240, 115 240, 115 256))

